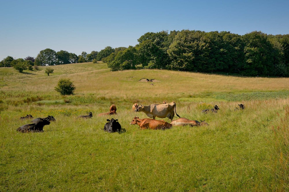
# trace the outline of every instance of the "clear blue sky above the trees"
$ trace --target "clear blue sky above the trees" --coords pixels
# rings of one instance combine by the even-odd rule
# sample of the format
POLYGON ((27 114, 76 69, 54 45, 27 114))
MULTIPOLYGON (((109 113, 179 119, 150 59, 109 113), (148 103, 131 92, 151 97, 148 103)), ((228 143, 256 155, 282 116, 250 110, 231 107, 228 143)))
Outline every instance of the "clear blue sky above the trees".
POLYGON ((50 48, 79 55, 162 30, 289 33, 289 1, 4 1, 0 60, 50 48))

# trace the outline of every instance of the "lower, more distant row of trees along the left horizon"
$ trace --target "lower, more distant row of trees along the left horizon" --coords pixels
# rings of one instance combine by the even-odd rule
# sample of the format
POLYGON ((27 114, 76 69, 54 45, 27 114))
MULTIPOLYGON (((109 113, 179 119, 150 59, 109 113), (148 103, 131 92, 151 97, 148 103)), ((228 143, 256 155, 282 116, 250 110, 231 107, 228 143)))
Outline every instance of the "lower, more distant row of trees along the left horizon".
POLYGON ((0 61, 0 67, 20 68, 23 71, 26 69, 32 70, 32 66, 52 66, 84 62, 96 63, 111 53, 114 53, 115 51, 117 52, 118 50, 123 50, 124 48, 125 47, 119 47, 113 49, 112 47, 107 46, 99 52, 91 51, 91 53, 87 54, 85 51, 83 51, 81 55, 78 56, 75 53, 69 53, 68 51, 61 50, 56 52, 52 49, 45 49, 40 51, 36 58, 28 56, 24 59, 14 59, 13 57, 8 56, 0 61))

